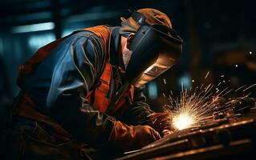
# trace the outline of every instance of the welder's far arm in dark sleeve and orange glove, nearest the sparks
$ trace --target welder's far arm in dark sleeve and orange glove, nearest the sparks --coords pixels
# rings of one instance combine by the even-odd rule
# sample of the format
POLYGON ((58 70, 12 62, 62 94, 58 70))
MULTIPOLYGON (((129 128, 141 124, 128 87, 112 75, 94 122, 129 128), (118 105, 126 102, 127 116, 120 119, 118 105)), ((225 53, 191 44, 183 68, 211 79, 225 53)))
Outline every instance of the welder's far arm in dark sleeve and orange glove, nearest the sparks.
POLYGON ((169 113, 156 113, 150 109, 144 96, 144 86, 135 88, 132 106, 125 110, 124 122, 136 125, 148 125, 158 131, 161 136, 171 133, 171 115, 169 113))

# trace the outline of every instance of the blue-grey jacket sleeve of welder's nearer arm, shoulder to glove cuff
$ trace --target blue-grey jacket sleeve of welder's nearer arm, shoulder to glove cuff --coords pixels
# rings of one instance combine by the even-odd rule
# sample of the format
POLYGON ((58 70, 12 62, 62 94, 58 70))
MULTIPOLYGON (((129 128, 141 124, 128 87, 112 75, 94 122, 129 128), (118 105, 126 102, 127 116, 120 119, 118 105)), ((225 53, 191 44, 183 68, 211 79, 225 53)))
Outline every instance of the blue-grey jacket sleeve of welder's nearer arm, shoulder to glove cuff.
POLYGON ((62 50, 64 56, 56 59, 47 95, 51 118, 79 141, 91 145, 108 142, 115 119, 100 114, 88 104, 85 95, 104 68, 104 52, 96 37, 77 37, 62 50), (83 112, 81 111, 83 109, 83 112))

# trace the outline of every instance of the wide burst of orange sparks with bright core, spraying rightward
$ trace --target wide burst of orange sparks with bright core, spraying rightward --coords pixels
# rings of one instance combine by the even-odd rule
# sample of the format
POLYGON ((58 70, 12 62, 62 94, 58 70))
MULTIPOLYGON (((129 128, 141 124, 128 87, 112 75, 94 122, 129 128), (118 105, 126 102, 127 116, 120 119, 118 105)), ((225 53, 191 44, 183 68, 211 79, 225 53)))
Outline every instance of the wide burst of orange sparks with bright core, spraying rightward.
MULTIPOLYGON (((208 74, 209 72, 206 74, 205 78, 207 78, 208 74)), ((221 82, 225 83, 225 80, 221 82)), ((217 86, 211 83, 208 85, 201 84, 200 87, 196 86, 193 91, 192 89, 188 90, 184 88, 183 82, 181 82, 180 96, 172 98, 169 95, 169 98, 167 98, 170 102, 170 105, 166 105, 169 106, 169 110, 167 110, 173 115, 170 125, 176 130, 185 130, 187 128, 200 126, 205 122, 213 122, 213 112, 218 114, 232 109, 232 102, 234 102, 235 99, 234 97, 226 98, 228 101, 224 102, 223 106, 220 106, 220 98, 224 98, 227 94, 232 92, 237 92, 242 89, 244 89, 242 90, 244 92, 256 86, 255 83, 247 88, 247 85, 241 86, 237 90, 230 89, 229 87, 220 89, 218 86, 221 85, 221 82, 219 82, 217 86)), ((170 93, 173 95, 172 90, 170 90, 170 93)), ((243 98, 248 97, 250 94, 247 94, 243 98)), ((164 93, 163 95, 165 97, 164 93)), ((236 115, 232 114, 227 116, 234 117, 236 115)))

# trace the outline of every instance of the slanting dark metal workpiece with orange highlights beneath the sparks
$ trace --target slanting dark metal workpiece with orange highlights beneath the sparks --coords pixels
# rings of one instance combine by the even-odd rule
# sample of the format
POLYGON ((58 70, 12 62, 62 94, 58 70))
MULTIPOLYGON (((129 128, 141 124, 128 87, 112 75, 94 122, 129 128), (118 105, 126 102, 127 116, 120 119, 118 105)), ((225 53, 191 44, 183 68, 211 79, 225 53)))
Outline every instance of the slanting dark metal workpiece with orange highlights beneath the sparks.
MULTIPOLYGON (((256 151, 255 109, 178 130, 165 138, 144 146, 124 159, 229 159, 250 158, 256 151)), ((250 158, 251 159, 251 158, 250 158)))

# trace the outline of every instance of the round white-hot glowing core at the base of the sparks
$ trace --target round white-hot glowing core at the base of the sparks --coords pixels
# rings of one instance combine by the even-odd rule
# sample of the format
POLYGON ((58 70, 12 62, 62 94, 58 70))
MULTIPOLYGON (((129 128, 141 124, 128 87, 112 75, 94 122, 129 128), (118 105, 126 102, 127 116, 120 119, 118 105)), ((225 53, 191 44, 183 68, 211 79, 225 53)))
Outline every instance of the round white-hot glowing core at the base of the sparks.
POLYGON ((184 130, 186 128, 189 128, 193 125, 193 123, 193 117, 186 113, 178 114, 173 118, 173 126, 178 130, 184 130))

